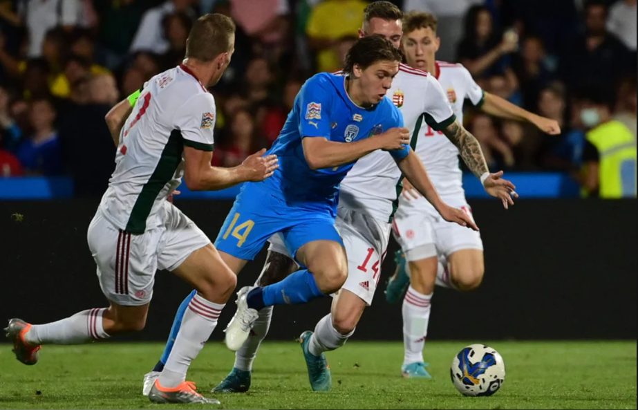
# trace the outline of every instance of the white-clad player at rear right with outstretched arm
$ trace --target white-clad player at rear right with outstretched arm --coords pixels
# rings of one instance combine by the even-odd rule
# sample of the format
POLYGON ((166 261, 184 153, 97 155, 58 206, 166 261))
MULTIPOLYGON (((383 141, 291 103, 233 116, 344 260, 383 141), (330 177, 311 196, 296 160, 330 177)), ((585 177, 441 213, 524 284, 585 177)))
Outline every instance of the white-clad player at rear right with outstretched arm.
MULTIPOLYGON (((550 134, 560 133, 559 124, 485 93, 461 64, 437 62, 440 45, 437 21, 425 12, 410 12, 404 17, 402 47, 409 66, 420 68, 438 78, 457 118, 462 120, 463 102, 469 100, 482 111, 501 118, 526 120, 550 134)), ((424 124, 415 149, 422 158, 438 192, 448 203, 471 212, 462 187, 458 167, 458 148, 435 129, 424 124)), ((404 183, 393 234, 401 245, 397 274, 388 283, 386 299, 403 299, 404 362, 407 378, 430 378, 424 367, 422 351, 430 317, 435 283, 458 290, 479 286, 484 271, 483 246, 478 232, 458 230, 441 221, 429 204, 404 183), (407 260, 407 266, 405 263, 407 260), (406 271, 409 272, 406 273, 406 271), (406 291, 407 290, 407 291, 406 291)), ((507 208, 507 203, 503 203, 507 208)))

